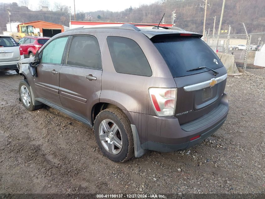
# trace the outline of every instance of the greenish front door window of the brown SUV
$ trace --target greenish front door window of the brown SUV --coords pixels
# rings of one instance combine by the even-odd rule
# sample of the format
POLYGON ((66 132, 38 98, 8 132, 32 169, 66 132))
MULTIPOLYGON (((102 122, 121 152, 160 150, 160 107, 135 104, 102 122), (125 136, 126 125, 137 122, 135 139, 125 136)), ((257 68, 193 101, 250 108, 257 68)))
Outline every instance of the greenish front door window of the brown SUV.
POLYGON ((41 63, 61 64, 64 48, 68 37, 51 41, 42 51, 41 63))

